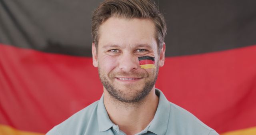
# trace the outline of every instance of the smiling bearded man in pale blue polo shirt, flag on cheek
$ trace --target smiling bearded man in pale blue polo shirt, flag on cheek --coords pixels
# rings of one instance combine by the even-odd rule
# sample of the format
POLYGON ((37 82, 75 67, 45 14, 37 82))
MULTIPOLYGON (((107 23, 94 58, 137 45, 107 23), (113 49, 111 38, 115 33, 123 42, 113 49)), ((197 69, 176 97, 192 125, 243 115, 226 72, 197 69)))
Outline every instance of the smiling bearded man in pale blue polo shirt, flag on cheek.
POLYGON ((155 88, 165 35, 150 0, 100 4, 92 17, 92 57, 104 93, 47 135, 218 135, 155 88))

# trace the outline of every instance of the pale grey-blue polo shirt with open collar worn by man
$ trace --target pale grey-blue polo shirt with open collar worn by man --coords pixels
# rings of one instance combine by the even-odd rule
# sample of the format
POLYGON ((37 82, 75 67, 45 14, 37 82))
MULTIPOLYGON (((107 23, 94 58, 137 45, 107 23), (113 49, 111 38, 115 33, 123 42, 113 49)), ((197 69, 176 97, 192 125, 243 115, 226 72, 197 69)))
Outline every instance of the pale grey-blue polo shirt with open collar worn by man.
MULTIPOLYGON (((136 135, 218 135, 185 109, 169 102, 156 89, 159 103, 148 126, 136 135)), ((103 102, 104 95, 88 107, 56 125, 46 135, 125 135, 112 123, 103 102)))

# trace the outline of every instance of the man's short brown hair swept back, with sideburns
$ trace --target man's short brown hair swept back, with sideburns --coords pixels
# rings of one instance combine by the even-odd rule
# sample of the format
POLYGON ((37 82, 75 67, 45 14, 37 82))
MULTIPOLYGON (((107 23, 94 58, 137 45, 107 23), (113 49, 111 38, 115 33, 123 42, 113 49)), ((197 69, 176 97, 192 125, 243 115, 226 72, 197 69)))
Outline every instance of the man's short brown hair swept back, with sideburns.
POLYGON ((92 15, 92 42, 94 42, 96 48, 98 46, 99 27, 110 17, 152 20, 156 27, 155 38, 158 44, 158 52, 162 49, 166 35, 166 22, 153 0, 105 0, 102 2, 92 15))

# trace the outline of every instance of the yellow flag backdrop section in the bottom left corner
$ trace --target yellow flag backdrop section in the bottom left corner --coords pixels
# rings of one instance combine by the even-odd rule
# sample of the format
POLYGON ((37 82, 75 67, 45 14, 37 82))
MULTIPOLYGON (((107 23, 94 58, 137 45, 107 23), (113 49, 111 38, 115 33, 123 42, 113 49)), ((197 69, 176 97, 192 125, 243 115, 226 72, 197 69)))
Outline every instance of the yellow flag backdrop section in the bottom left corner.
POLYGON ((21 131, 8 125, 0 124, 0 135, 45 135, 44 133, 35 133, 29 131, 21 131))

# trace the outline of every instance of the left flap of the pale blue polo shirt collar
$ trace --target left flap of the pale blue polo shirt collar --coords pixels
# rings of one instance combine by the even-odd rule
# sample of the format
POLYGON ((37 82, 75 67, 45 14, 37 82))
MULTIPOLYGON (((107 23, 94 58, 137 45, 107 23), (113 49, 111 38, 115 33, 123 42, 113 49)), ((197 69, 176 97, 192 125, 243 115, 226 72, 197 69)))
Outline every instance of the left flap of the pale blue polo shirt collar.
POLYGON ((104 97, 102 95, 98 102, 98 108, 97 108, 98 126, 99 126, 100 132, 106 131, 114 125, 114 123, 112 123, 112 121, 108 117, 108 113, 106 111, 103 98, 104 97))

